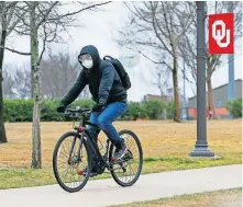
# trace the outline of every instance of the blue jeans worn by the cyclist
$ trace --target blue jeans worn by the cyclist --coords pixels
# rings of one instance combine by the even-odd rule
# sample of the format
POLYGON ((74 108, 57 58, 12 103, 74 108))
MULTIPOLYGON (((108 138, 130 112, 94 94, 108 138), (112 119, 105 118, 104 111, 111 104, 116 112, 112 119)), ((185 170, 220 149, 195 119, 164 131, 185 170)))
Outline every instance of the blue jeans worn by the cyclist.
MULTIPOLYGON (((100 129, 107 135, 107 137, 114 143, 115 147, 121 148, 121 143, 124 141, 121 138, 112 125, 112 123, 122 115, 128 108, 128 104, 123 102, 114 102, 108 104, 106 110, 100 113, 92 113, 90 115, 90 122, 99 126, 100 129)), ((89 128, 95 130, 92 126, 89 128)), ((97 133, 98 136, 99 131, 97 133)))

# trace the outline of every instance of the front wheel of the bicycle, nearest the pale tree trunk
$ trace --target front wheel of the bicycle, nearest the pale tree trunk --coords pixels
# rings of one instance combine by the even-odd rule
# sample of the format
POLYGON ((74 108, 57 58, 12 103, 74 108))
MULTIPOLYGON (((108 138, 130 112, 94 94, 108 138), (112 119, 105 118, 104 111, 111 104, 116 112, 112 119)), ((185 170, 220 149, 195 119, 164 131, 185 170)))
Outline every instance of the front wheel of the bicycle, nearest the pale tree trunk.
POLYGON ((87 142, 79 134, 70 131, 59 138, 53 153, 53 170, 63 189, 69 193, 80 191, 89 180, 90 163, 87 142), (84 169, 87 169, 85 175, 79 173, 84 169))

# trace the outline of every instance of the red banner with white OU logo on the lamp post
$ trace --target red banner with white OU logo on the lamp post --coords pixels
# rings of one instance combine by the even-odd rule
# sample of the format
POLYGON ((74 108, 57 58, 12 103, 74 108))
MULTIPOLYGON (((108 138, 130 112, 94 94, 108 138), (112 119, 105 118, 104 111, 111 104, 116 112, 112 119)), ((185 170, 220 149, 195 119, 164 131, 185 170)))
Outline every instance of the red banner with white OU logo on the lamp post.
POLYGON ((233 13, 209 15, 209 54, 233 54, 233 13))

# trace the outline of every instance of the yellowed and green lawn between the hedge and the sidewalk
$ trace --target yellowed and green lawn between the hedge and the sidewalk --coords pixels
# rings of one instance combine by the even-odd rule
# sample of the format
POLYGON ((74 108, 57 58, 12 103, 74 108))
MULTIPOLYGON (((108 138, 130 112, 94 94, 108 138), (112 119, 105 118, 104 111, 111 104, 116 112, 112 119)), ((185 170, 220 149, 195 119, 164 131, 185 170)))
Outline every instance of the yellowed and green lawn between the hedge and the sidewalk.
MULTIPOLYGON (((196 141, 196 123, 120 122, 115 127, 132 129, 140 138, 142 173, 200 169, 242 163, 241 119, 208 122, 208 140, 219 159, 188 158, 196 141)), ((7 124, 8 143, 0 145, 0 188, 55 184, 52 154, 58 137, 71 129, 70 123, 42 123, 43 169, 32 170, 31 123, 7 124)), ((103 135, 101 135, 102 140, 103 135)), ((96 179, 109 177, 109 174, 96 179)))

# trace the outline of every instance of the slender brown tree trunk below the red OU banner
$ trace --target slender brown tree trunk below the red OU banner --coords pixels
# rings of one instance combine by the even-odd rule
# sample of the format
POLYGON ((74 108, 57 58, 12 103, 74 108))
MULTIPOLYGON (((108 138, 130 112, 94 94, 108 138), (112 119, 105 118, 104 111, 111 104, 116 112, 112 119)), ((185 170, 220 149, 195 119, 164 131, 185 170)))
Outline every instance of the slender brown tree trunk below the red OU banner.
POLYGON ((214 105, 212 100, 212 81, 211 81, 211 66, 209 62, 209 58, 207 58, 207 87, 208 87, 208 111, 212 111, 212 118, 216 117, 214 105))

